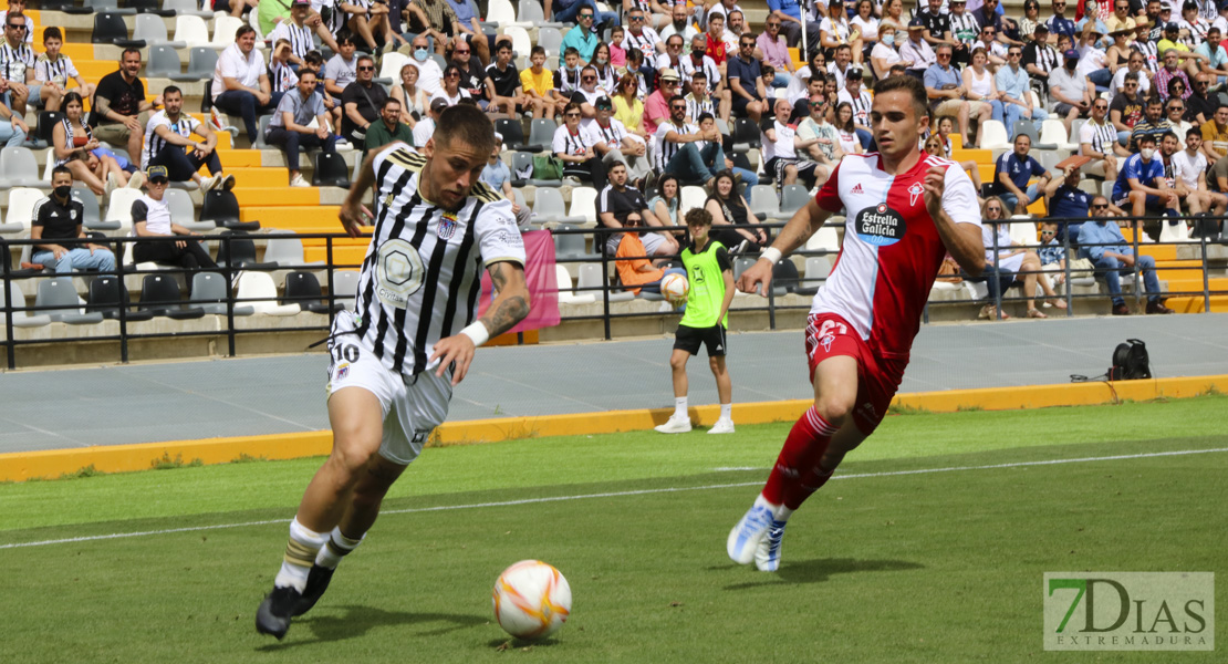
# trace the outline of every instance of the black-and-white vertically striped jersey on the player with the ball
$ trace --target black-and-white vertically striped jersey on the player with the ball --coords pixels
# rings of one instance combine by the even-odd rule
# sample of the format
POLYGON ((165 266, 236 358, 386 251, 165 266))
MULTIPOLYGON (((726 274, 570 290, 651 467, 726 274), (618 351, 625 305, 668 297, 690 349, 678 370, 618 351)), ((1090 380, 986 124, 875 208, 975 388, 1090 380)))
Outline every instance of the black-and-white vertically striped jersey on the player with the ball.
POLYGON ((379 211, 355 302, 362 345, 405 376, 425 371, 435 344, 476 318, 484 268, 524 264, 512 204, 478 182, 446 210, 419 187, 426 162, 402 142, 376 156, 379 211))

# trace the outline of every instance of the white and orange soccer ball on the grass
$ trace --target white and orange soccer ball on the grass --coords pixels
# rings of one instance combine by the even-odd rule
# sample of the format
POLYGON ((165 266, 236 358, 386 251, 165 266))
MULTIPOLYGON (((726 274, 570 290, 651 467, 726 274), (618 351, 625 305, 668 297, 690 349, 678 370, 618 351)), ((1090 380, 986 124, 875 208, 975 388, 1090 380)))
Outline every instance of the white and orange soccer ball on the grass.
POLYGON ((517 638, 545 638, 571 614, 571 585, 553 566, 522 560, 495 581, 495 620, 517 638))

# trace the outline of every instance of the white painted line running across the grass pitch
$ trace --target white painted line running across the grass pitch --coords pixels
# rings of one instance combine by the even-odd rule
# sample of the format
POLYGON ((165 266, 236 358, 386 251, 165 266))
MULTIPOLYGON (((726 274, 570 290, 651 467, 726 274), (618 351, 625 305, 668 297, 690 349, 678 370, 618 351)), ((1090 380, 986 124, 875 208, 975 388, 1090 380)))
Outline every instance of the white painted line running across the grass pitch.
MULTIPOLYGON (((1228 447, 1213 448, 1213 449, 1180 449, 1173 452, 1148 452, 1144 454, 1115 454, 1111 457, 1083 457, 1078 459, 1047 459, 1041 461, 1016 461, 1009 464, 990 464, 990 465, 962 465, 962 466, 948 466, 948 468, 921 468, 916 470, 889 470, 883 473, 855 473, 850 475, 835 475, 833 480, 858 480, 867 477, 890 477, 894 475, 925 475, 930 473, 954 473, 960 470, 993 470, 1002 468, 1023 468, 1032 465, 1057 465, 1057 464, 1082 464, 1092 461, 1116 461, 1124 459, 1152 459, 1156 457, 1180 457, 1185 454, 1210 454, 1216 452, 1228 452, 1228 447)), ((743 470, 743 469, 728 469, 728 470, 743 470)), ((766 469, 745 469, 745 470, 766 470, 766 469)), ((650 493, 674 493, 680 491, 709 491, 715 488, 737 488, 742 486, 759 486, 763 481, 754 482, 731 482, 731 484, 712 484, 704 486, 680 486, 680 487, 664 487, 664 488, 640 488, 635 491, 608 491, 603 493, 580 493, 576 496, 549 496, 544 498, 521 498, 518 501, 497 501, 486 503, 468 503, 468 504, 440 504, 435 507, 413 507, 409 509, 388 509, 381 512, 381 514, 414 514, 419 512, 445 512, 449 509, 480 509, 484 507, 510 507, 516 504, 537 504, 537 503, 549 503, 549 502, 566 502, 566 501, 581 501, 588 498, 616 498, 621 496, 645 496, 650 493)), ((22 549, 27 546, 48 546, 52 544, 76 544, 84 541, 99 541, 99 540, 118 540, 125 538, 144 538, 150 535, 169 535, 173 533, 198 533, 201 530, 223 530, 228 528, 247 528, 252 525, 273 525, 289 523, 285 519, 268 519, 260 522, 243 522, 243 523, 225 523, 215 525, 194 525, 188 528, 167 528, 162 530, 140 530, 135 533, 112 533, 109 535, 86 535, 80 538, 64 538, 58 540, 42 540, 42 541, 22 541, 14 544, 0 544, 0 550, 4 549, 22 549)))

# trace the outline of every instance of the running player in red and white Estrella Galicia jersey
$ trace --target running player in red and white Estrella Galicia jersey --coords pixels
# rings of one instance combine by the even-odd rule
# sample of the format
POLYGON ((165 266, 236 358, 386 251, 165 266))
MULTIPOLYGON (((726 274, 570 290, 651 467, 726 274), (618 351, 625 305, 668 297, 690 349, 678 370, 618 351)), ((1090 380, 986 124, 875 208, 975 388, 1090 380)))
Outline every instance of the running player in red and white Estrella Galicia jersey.
POLYGON ((744 292, 766 293, 772 265, 845 210, 844 245, 806 328, 814 405, 788 432, 768 484, 729 533, 728 554, 738 563, 776 571, 788 517, 882 421, 946 254, 973 276, 985 268, 976 191, 959 164, 917 147, 928 123, 921 81, 878 81, 871 125, 879 151, 845 155, 738 280, 744 292))

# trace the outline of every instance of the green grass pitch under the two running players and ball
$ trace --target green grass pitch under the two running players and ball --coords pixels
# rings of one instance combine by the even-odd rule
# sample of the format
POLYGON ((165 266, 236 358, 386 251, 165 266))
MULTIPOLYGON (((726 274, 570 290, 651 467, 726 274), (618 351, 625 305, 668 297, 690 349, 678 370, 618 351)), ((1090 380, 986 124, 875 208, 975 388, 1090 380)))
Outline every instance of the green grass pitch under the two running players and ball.
POLYGON ((0 485, 0 659, 1222 662, 1044 652, 1041 579, 1228 571, 1226 407, 889 417, 793 517, 775 574, 725 540, 787 423, 427 449, 280 643, 253 616, 319 459, 0 485), (1154 455, 1184 450, 1218 452, 1154 455), (508 644, 490 589, 530 557, 567 577, 572 617, 508 644))

